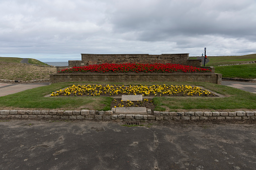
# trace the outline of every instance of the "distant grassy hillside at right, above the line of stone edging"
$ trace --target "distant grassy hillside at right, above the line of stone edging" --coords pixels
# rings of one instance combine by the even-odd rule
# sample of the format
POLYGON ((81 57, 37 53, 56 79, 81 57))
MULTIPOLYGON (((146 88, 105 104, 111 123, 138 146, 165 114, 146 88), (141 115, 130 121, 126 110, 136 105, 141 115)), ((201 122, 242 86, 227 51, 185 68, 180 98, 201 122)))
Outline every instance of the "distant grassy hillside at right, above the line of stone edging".
POLYGON ((207 57, 210 62, 205 64, 205 66, 218 66, 223 64, 237 64, 245 63, 250 61, 256 61, 256 54, 249 54, 244 56, 218 56, 218 57, 207 57))

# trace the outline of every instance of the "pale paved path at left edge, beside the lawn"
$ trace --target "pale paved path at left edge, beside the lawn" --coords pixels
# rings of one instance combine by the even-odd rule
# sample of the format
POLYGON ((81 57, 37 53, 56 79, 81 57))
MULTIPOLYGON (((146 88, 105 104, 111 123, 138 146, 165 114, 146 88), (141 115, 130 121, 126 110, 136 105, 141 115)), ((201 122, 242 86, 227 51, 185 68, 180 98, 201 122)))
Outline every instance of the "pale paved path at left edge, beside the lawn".
POLYGON ((49 85, 49 82, 31 84, 0 83, 0 97, 47 85, 49 85))

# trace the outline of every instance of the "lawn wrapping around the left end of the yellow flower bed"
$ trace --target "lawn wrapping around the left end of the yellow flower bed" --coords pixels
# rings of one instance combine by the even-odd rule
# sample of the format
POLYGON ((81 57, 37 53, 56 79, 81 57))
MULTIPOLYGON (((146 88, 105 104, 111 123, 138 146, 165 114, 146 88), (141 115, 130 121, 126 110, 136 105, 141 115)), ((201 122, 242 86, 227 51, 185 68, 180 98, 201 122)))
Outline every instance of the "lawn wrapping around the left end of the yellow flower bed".
POLYGON ((56 83, 0 97, 0 108, 109 110, 110 97, 44 97, 72 83, 56 83))

